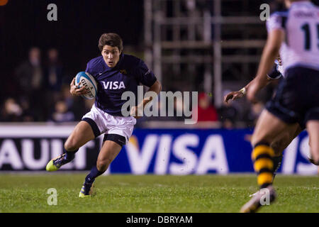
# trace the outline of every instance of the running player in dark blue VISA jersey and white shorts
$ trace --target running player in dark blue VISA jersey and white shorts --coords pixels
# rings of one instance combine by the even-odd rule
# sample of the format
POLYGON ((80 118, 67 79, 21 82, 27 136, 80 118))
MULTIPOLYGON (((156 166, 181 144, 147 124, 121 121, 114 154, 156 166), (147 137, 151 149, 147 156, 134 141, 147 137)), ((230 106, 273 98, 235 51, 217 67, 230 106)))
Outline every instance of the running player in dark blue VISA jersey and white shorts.
MULTIPOLYGON (((96 165, 85 177, 79 197, 91 196, 94 180, 107 170, 123 145, 128 143, 136 118, 140 116, 138 112, 152 100, 145 98, 140 103, 135 101, 136 105, 130 109, 130 116, 123 116, 122 106, 126 102, 121 99, 123 92, 133 92, 135 97, 138 97, 140 83, 149 87, 149 92, 156 94, 159 94, 162 89, 162 85, 142 60, 123 53, 123 41, 118 34, 101 35, 99 50, 101 56, 90 60, 85 70, 94 77, 98 87, 94 105, 67 138, 64 153, 50 160, 46 167, 47 171, 59 170, 62 165, 74 159, 75 153, 82 145, 104 133, 103 145, 96 165), (115 86, 115 84, 121 84, 121 86, 115 86)), ((78 88, 74 82, 75 79, 70 84, 70 93, 74 96, 85 94, 85 87, 78 88)))

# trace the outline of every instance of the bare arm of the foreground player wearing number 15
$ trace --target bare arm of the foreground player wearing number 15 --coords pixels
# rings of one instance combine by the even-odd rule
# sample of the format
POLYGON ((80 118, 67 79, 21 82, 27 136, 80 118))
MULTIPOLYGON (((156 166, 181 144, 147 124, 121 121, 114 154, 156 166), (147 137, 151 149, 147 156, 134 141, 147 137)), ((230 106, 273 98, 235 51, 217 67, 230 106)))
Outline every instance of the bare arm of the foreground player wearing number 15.
POLYGON ((250 83, 247 89, 247 99, 255 101, 255 96, 265 84, 269 82, 267 72, 269 72, 274 64, 274 60, 279 55, 281 43, 284 40, 284 31, 281 29, 274 29, 271 31, 267 38, 267 43, 262 52, 262 59, 260 60, 257 76, 250 83))

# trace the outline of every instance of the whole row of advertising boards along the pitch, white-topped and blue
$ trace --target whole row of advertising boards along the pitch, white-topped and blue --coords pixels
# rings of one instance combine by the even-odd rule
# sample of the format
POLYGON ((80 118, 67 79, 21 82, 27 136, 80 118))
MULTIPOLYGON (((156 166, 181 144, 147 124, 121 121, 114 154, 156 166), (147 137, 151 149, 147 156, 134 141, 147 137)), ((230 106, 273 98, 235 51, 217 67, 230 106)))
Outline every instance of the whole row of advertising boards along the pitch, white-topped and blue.
MULTIPOLYGON (((0 172, 41 171, 62 153, 70 126, 0 127, 0 172)), ((106 174, 204 175, 253 172, 249 129, 135 129, 130 142, 111 163, 106 174)), ((86 143, 76 158, 61 170, 90 170, 103 140, 86 143)), ((279 172, 315 175, 308 162, 308 135, 301 133, 284 153, 279 172)))

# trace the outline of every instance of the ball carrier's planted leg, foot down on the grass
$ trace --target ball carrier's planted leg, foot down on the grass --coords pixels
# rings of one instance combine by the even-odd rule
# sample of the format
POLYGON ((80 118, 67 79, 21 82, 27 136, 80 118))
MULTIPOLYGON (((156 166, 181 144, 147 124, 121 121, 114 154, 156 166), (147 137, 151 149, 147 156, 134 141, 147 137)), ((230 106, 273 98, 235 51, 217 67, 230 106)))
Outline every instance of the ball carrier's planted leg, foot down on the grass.
POLYGON ((104 142, 99 153, 96 165, 92 167, 89 175, 85 177, 85 182, 82 186, 79 197, 90 196, 92 191, 91 188, 96 177, 99 177, 106 172, 108 166, 116 158, 118 153, 120 153, 123 145, 125 145, 125 137, 116 134, 106 134, 104 136, 104 142))

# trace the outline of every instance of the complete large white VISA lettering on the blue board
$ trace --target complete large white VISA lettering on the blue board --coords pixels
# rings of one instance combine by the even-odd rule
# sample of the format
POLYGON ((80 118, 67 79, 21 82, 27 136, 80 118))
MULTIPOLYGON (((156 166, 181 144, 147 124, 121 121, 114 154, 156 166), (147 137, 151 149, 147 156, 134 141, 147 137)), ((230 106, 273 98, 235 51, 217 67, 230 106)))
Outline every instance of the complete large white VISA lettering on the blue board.
POLYGON ((135 175, 147 174, 154 155, 156 155, 154 167, 156 175, 203 175, 208 170, 215 170, 218 174, 229 172, 221 135, 209 135, 199 157, 189 148, 196 148, 198 145, 199 136, 196 134, 179 135, 174 140, 169 134, 149 134, 141 148, 138 148, 137 140, 132 136, 125 149, 131 172, 135 175), (169 158, 171 153, 181 160, 181 163, 172 162, 169 158))

